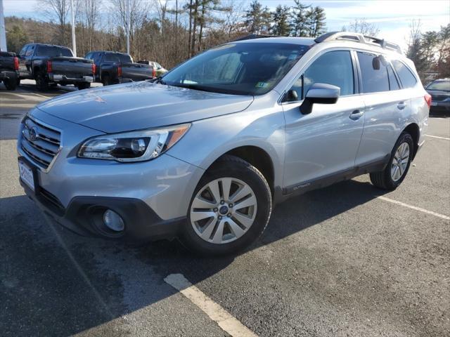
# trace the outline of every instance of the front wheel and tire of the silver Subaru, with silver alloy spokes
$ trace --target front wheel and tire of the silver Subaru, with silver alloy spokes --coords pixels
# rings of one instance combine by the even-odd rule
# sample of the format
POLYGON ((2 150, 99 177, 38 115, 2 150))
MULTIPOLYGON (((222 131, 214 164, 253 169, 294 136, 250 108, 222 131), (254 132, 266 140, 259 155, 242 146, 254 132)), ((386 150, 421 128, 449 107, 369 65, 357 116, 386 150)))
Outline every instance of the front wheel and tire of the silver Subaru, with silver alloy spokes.
MULTIPOLYGON (((238 251, 255 242, 264 232, 269 223, 271 210, 271 190, 262 173, 247 161, 226 155, 205 173, 195 188, 189 204, 188 221, 181 231, 181 243, 191 251, 204 256, 223 256, 238 253, 238 251), (221 183, 218 183, 219 181, 221 183), (227 184, 227 181, 230 182, 229 186, 231 186, 229 198, 226 198, 224 194, 226 189, 223 187, 224 184, 227 184), (209 184, 215 186, 216 183, 221 186, 216 190, 220 194, 220 198, 217 199, 227 199, 224 204, 220 204, 219 200, 213 201, 216 199, 212 197, 214 193, 210 193, 207 187, 209 184), (208 204, 210 209, 207 212, 210 214, 213 212, 214 216, 195 220, 195 218, 201 218, 201 216, 193 218, 195 210, 199 210, 195 206, 200 205, 203 208, 203 201, 206 200, 203 199, 205 194, 202 193, 206 193, 206 197, 209 199, 207 202, 210 203, 208 204), (233 204, 233 201, 236 204, 233 204), (239 205, 244 205, 244 203, 252 204, 252 206, 238 208, 239 205), (233 226, 229 224, 230 220, 233 226), (204 227, 200 227, 200 222, 206 223, 204 227), (200 232, 201 230, 203 232, 200 232), (200 237, 202 234, 205 235, 205 239, 200 237), (216 243, 212 241, 216 241, 216 243)), ((202 209, 200 213, 204 213, 204 211, 202 209)))

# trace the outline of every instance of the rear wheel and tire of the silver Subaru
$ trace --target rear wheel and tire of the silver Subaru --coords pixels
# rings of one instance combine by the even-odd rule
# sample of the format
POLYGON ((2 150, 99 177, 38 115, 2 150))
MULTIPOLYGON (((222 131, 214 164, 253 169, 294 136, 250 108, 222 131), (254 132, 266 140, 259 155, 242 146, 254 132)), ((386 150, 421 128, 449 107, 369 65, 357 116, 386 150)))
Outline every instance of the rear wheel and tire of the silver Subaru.
POLYGON ((411 135, 407 132, 401 133, 397 143, 391 152, 389 163, 383 171, 371 173, 371 182, 376 187, 383 190, 395 190, 403 182, 406 174, 411 166, 411 161, 414 153, 414 141, 411 135), (408 147, 406 149, 407 144, 408 147), (401 147, 402 146, 402 147, 401 147), (405 159, 406 150, 408 150, 408 158, 405 159), (397 153, 399 151, 399 153, 397 153), (402 154, 403 152, 403 154, 402 154), (400 154, 400 156, 399 156, 400 154), (397 161, 397 157, 403 157, 400 161, 397 161), (407 161, 406 161, 407 160, 407 161))

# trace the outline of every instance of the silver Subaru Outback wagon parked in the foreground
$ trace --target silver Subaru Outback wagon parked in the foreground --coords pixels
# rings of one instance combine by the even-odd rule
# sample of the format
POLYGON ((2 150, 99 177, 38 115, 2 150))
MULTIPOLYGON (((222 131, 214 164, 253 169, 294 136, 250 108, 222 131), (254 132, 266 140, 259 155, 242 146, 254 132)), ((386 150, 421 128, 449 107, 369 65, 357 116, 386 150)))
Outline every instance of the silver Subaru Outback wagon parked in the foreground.
POLYGON ((430 104, 387 41, 253 36, 153 81, 41 103, 20 125, 20 183, 79 234, 232 253, 294 195, 364 173, 397 188, 430 104))

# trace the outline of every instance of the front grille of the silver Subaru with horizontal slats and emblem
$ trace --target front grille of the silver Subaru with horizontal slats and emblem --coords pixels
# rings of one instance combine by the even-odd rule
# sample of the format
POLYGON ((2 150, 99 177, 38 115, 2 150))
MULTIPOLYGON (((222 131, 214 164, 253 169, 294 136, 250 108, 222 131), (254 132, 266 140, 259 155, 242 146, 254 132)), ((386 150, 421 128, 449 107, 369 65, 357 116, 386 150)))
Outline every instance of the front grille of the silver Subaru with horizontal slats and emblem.
POLYGON ((54 128, 25 117, 20 147, 34 164, 46 170, 60 150, 61 133, 54 128))

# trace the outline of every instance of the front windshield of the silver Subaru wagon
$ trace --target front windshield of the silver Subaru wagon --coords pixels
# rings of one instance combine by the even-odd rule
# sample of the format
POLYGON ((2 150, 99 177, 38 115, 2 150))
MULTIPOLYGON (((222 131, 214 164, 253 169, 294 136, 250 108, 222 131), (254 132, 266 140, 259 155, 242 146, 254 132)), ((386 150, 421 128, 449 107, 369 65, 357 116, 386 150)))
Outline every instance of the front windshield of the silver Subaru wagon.
POLYGON ((262 95, 278 84, 308 48, 264 42, 225 44, 179 65, 163 82, 217 93, 262 95))

